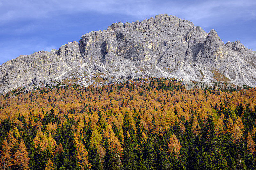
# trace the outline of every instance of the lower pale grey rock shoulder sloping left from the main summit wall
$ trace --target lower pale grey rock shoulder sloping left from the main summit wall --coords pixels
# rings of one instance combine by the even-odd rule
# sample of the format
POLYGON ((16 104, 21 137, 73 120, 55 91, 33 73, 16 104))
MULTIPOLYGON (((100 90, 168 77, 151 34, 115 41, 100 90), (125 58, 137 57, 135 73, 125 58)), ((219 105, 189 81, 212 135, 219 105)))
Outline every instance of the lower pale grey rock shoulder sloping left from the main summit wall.
POLYGON ((33 81, 40 83, 57 78, 83 62, 77 42, 63 45, 58 51, 39 51, 31 55, 21 55, 0 66, 0 93, 6 93, 33 81))

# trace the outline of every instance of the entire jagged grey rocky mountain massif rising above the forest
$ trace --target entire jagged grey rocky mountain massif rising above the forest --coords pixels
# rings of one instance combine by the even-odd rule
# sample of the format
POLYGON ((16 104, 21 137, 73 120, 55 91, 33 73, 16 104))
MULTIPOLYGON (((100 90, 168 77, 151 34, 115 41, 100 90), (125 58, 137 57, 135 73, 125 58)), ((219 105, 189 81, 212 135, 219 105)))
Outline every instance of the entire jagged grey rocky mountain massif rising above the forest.
POLYGON ((193 81, 230 80, 256 85, 256 52, 240 41, 224 44, 215 30, 157 15, 113 23, 59 50, 22 55, 0 66, 0 93, 51 84, 100 85, 143 76, 193 81), (221 75, 221 76, 220 76, 221 75))

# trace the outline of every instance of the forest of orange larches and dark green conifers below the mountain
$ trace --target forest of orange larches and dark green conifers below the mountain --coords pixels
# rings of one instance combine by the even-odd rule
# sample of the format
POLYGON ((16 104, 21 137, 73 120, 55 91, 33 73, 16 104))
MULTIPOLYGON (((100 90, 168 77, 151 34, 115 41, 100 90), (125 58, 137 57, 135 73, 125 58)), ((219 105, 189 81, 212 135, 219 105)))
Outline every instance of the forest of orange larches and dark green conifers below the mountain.
POLYGON ((256 89, 138 78, 0 96, 0 169, 255 170, 256 89))

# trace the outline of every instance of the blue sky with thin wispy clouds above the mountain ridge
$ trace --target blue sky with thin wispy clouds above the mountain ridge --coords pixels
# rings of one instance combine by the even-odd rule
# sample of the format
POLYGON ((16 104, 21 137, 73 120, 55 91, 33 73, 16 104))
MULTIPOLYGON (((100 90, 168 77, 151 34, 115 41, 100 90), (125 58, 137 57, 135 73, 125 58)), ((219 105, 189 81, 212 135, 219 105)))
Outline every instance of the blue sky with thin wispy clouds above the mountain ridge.
POLYGON ((192 21, 223 40, 256 51, 255 0, 0 0, 0 64, 19 55, 58 49, 113 22, 166 13, 192 21))

